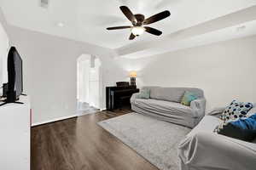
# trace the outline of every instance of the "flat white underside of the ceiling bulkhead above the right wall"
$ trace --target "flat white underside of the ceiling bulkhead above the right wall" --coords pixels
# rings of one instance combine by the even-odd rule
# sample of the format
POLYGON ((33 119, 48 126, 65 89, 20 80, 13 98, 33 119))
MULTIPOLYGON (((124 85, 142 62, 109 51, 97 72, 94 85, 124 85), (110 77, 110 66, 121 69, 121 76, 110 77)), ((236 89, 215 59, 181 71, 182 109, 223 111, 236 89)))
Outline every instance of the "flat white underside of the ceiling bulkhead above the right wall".
POLYGON ((207 34, 196 35, 195 37, 188 37, 177 42, 167 43, 165 46, 157 48, 148 48, 146 50, 137 50, 135 53, 122 55, 128 59, 139 59, 143 57, 150 57, 157 54, 165 54, 168 52, 177 51, 184 48, 194 48, 214 42, 223 42, 230 39, 241 37, 248 37, 256 35, 256 20, 243 23, 241 26, 230 26, 218 31, 212 31, 207 34), (245 26, 245 28, 243 27, 245 26), (240 28, 242 28, 240 30, 240 28))

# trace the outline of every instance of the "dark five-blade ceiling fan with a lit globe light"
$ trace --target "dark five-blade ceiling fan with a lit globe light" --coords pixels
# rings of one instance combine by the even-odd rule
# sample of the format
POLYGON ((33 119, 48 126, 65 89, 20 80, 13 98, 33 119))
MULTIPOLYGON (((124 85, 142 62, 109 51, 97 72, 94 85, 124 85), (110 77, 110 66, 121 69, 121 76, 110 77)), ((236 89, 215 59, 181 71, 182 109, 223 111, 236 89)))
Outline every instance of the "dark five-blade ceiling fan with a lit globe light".
POLYGON ((114 26, 108 27, 107 30, 119 30, 130 28, 130 40, 133 40, 135 37, 142 35, 144 31, 147 31, 148 33, 153 34, 155 36, 160 36, 162 34, 161 31, 145 25, 149 25, 159 20, 163 20, 171 15, 171 13, 168 10, 166 10, 159 14, 154 14, 148 19, 145 19, 145 16, 143 14, 132 14, 131 10, 126 6, 121 6, 120 9, 125 14, 126 18, 131 21, 132 26, 114 26))

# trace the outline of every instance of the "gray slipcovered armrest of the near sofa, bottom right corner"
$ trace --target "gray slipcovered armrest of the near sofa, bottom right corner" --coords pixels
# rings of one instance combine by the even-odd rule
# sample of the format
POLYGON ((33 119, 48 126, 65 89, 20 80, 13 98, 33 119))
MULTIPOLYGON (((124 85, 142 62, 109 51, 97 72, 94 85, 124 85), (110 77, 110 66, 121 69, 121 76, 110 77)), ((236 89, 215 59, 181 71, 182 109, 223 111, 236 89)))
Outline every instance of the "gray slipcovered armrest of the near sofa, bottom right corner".
POLYGON ((178 146, 181 170, 255 169, 256 144, 216 133, 195 133, 178 146))

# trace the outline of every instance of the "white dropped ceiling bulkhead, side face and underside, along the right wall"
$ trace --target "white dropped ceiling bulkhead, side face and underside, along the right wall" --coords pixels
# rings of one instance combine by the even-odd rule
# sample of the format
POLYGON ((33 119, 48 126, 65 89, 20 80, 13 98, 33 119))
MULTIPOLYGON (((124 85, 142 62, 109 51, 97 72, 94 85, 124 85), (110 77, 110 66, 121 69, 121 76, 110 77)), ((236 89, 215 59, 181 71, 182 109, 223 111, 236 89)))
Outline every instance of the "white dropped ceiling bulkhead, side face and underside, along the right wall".
POLYGON ((256 34, 256 5, 214 20, 173 32, 160 40, 140 41, 116 49, 119 56, 137 59, 177 49, 201 46, 256 34), (236 31, 241 27, 240 31, 236 31), (196 40, 196 41, 195 41, 196 40), (199 41, 198 41, 199 40, 199 41))

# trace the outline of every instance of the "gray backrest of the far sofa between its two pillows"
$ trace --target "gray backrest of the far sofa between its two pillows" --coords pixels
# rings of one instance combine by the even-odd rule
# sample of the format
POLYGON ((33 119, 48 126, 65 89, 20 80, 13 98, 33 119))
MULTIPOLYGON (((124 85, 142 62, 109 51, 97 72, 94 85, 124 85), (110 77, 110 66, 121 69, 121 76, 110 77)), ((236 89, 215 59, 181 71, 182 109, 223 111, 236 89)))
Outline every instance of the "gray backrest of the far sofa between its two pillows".
POLYGON ((185 91, 194 93, 198 98, 202 98, 203 91, 199 88, 160 88, 154 87, 150 89, 150 98, 172 101, 180 103, 185 91))

